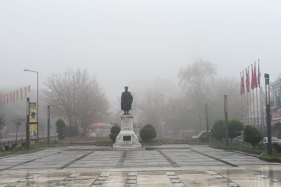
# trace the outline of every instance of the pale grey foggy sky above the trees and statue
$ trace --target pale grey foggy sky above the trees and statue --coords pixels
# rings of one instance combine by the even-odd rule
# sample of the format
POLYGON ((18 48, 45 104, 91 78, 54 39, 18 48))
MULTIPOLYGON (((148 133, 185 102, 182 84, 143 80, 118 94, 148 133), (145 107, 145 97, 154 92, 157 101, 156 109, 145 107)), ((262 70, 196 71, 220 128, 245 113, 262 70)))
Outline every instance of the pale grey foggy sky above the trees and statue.
MULTIPOLYGON (((280 1, 0 1, 0 89, 39 87, 51 73, 87 68, 109 100, 129 86, 177 84, 203 59, 235 75, 260 59, 280 71, 280 1)), ((264 84, 264 81, 262 82, 264 84)), ((14 90, 11 90, 14 91, 14 90)))

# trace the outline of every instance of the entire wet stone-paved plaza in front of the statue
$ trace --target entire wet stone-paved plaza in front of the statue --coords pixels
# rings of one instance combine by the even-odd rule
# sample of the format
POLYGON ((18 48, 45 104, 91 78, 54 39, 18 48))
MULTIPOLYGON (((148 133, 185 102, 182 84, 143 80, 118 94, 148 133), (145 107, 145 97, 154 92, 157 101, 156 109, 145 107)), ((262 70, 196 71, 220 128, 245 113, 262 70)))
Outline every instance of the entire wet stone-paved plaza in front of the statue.
POLYGON ((281 164, 203 145, 69 146, 0 157, 0 186, 281 186, 281 164))

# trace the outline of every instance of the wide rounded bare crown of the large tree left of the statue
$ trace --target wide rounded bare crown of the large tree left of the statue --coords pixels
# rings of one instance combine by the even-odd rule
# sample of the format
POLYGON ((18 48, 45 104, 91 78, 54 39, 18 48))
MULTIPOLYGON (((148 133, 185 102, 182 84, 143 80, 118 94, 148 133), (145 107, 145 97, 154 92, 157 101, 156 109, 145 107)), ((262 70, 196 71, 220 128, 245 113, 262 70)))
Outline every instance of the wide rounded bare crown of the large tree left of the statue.
POLYGON ((87 69, 53 73, 44 84, 47 89, 42 90, 43 100, 52 105, 53 116, 66 118, 69 125, 89 125, 109 116, 105 92, 87 69))

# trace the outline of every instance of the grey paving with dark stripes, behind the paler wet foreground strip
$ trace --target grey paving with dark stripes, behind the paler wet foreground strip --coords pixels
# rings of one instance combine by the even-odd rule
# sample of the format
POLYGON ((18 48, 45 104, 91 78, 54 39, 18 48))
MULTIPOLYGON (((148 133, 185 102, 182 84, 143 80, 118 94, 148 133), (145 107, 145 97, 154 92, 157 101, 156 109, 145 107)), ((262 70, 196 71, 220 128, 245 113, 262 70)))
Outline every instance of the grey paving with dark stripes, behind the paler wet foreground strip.
MULTIPOLYGON (((268 166, 269 163, 255 157, 206 146, 190 146, 191 149, 101 151, 85 146, 83 150, 48 148, 40 152, 20 154, 0 159, 1 170, 44 170, 64 168, 183 168, 187 166, 268 166), (88 149, 89 148, 89 149, 88 149)), ((80 148, 77 146, 77 148, 80 148)))

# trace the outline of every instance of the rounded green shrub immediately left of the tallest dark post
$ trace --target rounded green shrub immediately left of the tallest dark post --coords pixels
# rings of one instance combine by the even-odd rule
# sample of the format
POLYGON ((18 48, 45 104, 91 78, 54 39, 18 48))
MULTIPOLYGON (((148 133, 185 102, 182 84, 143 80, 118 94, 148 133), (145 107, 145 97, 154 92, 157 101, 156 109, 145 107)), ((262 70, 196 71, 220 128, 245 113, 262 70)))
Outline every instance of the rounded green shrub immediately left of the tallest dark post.
POLYGON ((260 143, 264 136, 262 136, 262 133, 260 132, 257 127, 253 125, 247 125, 244 129, 244 141, 247 143, 251 143, 253 148, 257 146, 257 143, 260 143))

